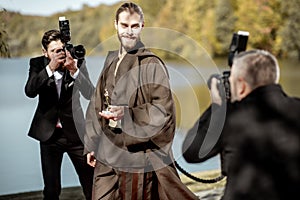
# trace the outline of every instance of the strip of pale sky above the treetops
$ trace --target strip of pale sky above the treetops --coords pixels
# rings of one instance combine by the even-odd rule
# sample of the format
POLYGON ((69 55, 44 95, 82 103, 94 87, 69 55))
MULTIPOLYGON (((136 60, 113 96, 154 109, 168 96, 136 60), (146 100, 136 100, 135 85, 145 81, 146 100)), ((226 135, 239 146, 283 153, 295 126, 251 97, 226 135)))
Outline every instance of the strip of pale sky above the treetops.
POLYGON ((1 0, 0 10, 20 12, 26 15, 49 16, 66 10, 79 10, 82 6, 111 5, 121 0, 1 0))

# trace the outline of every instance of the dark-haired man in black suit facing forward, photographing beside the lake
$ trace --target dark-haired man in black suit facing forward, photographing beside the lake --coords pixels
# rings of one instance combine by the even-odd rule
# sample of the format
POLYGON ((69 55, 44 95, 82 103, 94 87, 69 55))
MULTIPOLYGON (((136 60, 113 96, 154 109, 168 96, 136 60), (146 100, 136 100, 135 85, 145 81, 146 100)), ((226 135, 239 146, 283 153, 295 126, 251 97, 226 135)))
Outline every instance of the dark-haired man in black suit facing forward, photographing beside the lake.
POLYGON ((93 168, 86 164, 81 135, 85 121, 80 93, 90 99, 94 86, 82 59, 78 62, 64 49, 58 30, 44 33, 43 56, 30 59, 25 93, 39 96, 28 135, 40 141, 44 199, 59 199, 61 164, 66 152, 79 176, 86 199, 91 199, 93 168), (79 64, 80 63, 80 64, 79 64))

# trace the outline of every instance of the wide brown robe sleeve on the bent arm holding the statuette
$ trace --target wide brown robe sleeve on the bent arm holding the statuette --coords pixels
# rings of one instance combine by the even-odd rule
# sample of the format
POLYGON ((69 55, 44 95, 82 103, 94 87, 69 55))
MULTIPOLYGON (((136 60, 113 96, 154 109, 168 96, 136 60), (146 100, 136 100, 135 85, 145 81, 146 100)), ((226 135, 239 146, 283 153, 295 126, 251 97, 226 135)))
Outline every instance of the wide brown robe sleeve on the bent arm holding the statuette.
POLYGON ((156 57, 141 63, 140 87, 125 112, 123 132, 129 151, 168 152, 174 138, 175 106, 166 67, 156 57))

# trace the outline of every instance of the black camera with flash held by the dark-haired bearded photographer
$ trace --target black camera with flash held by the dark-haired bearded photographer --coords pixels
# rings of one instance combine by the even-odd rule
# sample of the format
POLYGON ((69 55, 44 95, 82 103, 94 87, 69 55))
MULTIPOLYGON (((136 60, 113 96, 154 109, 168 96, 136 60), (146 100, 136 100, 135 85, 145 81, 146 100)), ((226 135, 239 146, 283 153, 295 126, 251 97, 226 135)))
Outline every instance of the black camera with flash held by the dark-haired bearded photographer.
POLYGON ((69 43, 71 40, 70 23, 65 17, 59 17, 59 31, 62 35, 62 41, 65 43, 65 49, 71 53, 74 59, 83 60, 85 48, 83 45, 73 46, 69 43))

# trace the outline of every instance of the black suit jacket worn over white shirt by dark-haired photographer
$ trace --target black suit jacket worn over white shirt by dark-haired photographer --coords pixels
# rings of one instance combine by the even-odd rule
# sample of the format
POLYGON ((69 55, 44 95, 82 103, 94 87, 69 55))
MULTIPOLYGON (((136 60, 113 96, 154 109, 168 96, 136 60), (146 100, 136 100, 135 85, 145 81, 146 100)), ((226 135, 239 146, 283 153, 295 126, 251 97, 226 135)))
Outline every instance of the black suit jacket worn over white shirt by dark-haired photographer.
POLYGON ((65 71, 60 97, 54 76, 49 77, 47 74, 48 63, 44 56, 30 59, 25 94, 30 98, 38 96, 39 100, 28 135, 42 142, 47 141, 53 135, 60 119, 65 136, 72 142, 80 142, 85 131, 80 93, 86 99, 90 99, 94 91, 85 62, 80 66, 76 80, 70 76, 69 71, 65 71))

